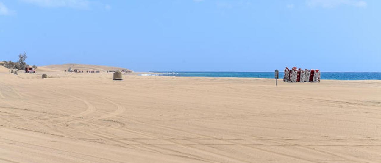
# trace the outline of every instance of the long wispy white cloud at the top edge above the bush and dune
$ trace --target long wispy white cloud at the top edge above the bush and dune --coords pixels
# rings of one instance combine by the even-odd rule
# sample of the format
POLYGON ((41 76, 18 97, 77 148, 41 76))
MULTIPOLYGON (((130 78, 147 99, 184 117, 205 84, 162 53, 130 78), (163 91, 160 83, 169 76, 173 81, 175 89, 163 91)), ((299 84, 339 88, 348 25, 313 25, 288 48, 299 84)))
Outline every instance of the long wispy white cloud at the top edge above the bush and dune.
POLYGON ((22 0, 23 2, 41 7, 70 7, 87 9, 90 6, 88 0, 22 0))

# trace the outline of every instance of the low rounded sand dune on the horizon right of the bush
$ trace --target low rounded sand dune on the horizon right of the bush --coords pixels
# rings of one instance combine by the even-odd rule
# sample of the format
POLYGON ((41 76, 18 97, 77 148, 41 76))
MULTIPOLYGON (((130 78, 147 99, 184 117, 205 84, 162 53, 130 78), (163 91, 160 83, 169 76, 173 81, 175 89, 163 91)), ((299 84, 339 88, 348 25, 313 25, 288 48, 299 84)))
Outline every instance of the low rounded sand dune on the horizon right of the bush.
POLYGON ((99 70, 102 72, 106 72, 108 70, 126 69, 122 67, 98 66, 98 65, 88 65, 88 64, 58 64, 58 65, 40 66, 40 67, 37 67, 37 70, 43 71, 43 72, 62 72, 64 70, 67 70, 69 67, 71 67, 72 69, 99 70))

